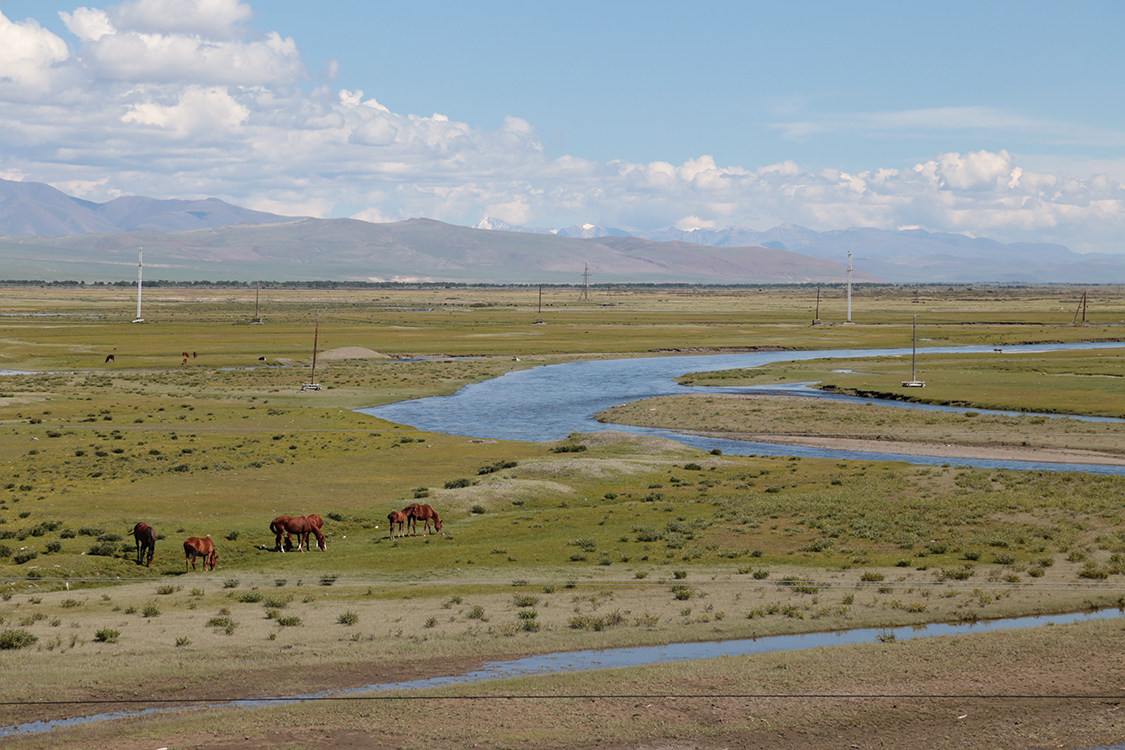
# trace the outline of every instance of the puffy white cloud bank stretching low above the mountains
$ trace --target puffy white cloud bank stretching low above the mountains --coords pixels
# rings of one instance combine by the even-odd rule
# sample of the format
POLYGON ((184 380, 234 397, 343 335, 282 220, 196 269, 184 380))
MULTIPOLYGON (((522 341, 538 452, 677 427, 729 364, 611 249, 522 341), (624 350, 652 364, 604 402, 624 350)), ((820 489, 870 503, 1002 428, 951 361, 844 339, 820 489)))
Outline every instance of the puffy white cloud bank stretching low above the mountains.
MULTIPOLYGON (((317 81, 299 39, 256 28, 237 0, 127 0, 60 17, 68 38, 0 13, 0 178, 89 200, 215 196, 288 215, 630 231, 919 227, 1125 252, 1125 186, 1036 172, 1004 150, 853 172, 705 154, 555 157, 515 115, 479 129, 317 81)), ((372 88, 386 74, 372 72, 372 88)))

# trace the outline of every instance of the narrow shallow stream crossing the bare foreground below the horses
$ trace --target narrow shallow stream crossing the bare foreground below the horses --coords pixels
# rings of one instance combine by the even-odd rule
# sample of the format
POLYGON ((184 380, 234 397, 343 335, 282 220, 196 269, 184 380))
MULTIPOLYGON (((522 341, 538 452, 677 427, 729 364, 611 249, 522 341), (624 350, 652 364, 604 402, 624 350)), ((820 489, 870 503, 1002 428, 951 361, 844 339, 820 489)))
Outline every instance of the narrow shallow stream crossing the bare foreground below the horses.
MULTIPOLYGON (((639 667, 644 665, 668 663, 674 661, 693 661, 696 659, 714 659, 718 657, 748 656, 770 653, 774 651, 798 651, 818 649, 831 645, 852 643, 873 643, 878 641, 909 641, 916 638, 934 638, 936 635, 964 635, 968 633, 989 633, 1002 630, 1018 630, 1042 625, 1062 625, 1091 620, 1112 620, 1122 617, 1125 612, 1118 609, 1101 609, 1098 612, 1081 612, 1064 615, 1043 615, 1038 617, 1012 617, 1009 620, 990 620, 964 624, 930 624, 908 627, 874 629, 865 627, 835 633, 804 633, 801 635, 773 635, 770 638, 745 639, 737 641, 706 641, 702 643, 670 643, 667 645, 638 647, 629 649, 605 649, 601 651, 567 651, 564 653, 546 653, 541 656, 495 661, 480 669, 462 675, 431 677, 426 679, 407 680, 403 683, 379 683, 346 690, 326 690, 307 693, 286 697, 259 698, 252 701, 232 701, 219 704, 198 704, 143 711, 119 711, 73 719, 60 719, 46 722, 28 722, 14 726, 0 728, 0 738, 20 734, 37 734, 68 726, 80 726, 115 719, 134 719, 169 713, 172 711, 198 711, 201 708, 261 708, 264 706, 300 703, 304 701, 325 701, 333 698, 354 699, 367 694, 378 694, 400 690, 418 690, 423 688, 444 687, 467 683, 484 683, 488 680, 525 677, 529 675, 558 675, 566 672, 588 671, 594 669, 613 669, 618 667, 639 667)), ((1113 746, 1123 748, 1125 746, 1113 746)))

